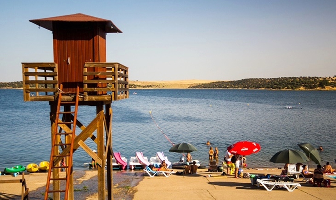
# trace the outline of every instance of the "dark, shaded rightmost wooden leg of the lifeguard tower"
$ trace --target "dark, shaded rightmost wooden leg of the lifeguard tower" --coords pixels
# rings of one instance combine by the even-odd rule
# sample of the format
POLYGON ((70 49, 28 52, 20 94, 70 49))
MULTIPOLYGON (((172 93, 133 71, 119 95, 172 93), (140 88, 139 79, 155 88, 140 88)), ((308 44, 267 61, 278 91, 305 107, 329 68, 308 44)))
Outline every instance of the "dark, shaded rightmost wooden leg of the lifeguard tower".
POLYGON ((108 128, 106 133, 106 148, 107 150, 107 190, 108 190, 108 200, 113 200, 113 168, 112 168, 112 107, 111 103, 105 105, 106 110, 106 127, 108 128), (110 140, 109 140, 110 138, 110 140))

